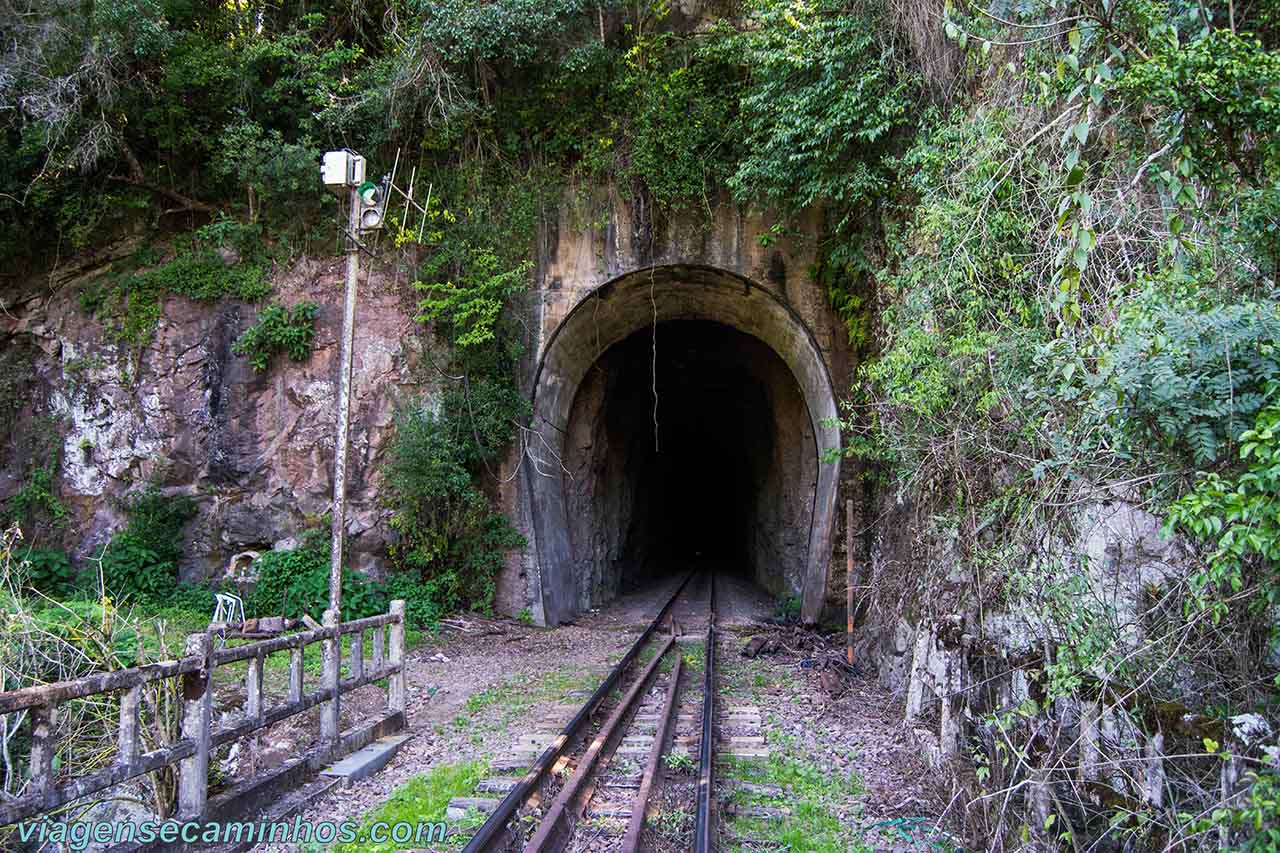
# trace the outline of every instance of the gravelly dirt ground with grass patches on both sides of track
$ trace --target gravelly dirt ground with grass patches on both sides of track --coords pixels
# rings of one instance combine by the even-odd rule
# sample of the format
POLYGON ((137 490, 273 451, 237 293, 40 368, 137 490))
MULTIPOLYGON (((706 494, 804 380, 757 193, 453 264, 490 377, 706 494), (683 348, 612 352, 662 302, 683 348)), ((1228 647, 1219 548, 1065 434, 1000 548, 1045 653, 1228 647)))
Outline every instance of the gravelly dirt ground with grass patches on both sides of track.
MULTIPOLYGON (((302 818, 358 820, 435 765, 502 754, 556 708, 581 703, 677 580, 621 597, 556 629, 481 619, 445 628, 407 654, 413 738, 380 772, 334 789, 302 818)), ((809 648, 799 648, 792 640, 801 633, 771 624, 774 603, 745 581, 730 579, 717 589, 718 671, 724 674, 726 697, 756 703, 774 729, 826 772, 860 776, 863 793, 841 820, 855 825, 870 849, 925 849, 943 803, 931 788, 933 775, 908 740, 901 697, 887 694, 868 676, 823 679, 819 669, 823 654, 831 656, 829 644, 810 639, 809 648), (777 647, 749 660, 740 651, 753 637, 777 637, 777 647)), ((675 612, 680 620, 681 605, 675 612)), ((361 702, 380 697, 372 688, 366 692, 361 702)), ((255 848, 288 849, 296 848, 255 848)))

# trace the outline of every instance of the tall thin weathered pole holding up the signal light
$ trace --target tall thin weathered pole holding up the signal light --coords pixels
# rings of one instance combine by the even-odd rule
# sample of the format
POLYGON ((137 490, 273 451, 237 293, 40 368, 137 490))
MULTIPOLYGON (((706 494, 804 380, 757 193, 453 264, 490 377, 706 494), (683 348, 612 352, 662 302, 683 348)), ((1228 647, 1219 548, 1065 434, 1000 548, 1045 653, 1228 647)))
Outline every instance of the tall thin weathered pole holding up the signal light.
POLYGON ((342 608, 342 557, 347 540, 347 448, 351 429, 351 361, 356 342, 356 277, 360 274, 361 199, 356 187, 348 195, 347 298, 342 309, 342 338, 338 366, 338 435, 333 448, 333 532, 329 556, 329 610, 342 608))

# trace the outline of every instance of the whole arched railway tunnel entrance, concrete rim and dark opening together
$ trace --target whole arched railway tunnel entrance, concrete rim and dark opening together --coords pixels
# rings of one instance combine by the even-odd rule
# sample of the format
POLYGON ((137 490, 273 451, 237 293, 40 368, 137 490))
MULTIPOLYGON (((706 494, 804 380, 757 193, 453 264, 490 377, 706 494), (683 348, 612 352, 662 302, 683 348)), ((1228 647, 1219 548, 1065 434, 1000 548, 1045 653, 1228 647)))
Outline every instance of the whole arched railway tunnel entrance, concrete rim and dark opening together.
POLYGON ((532 402, 548 624, 690 567, 800 594, 818 617, 837 411, 822 352, 777 295, 703 266, 613 279, 556 328, 532 402))

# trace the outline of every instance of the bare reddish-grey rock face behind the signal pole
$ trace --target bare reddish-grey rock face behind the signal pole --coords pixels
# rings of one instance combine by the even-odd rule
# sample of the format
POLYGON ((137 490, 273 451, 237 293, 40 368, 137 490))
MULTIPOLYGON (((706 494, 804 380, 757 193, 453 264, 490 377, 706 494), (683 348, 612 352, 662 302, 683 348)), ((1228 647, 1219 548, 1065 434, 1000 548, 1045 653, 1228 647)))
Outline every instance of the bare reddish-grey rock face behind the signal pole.
MULTIPOLYGON (((6 318, 10 341, 40 350, 29 410, 51 415, 63 434, 61 497, 74 516, 63 544, 92 553, 123 524, 118 500, 146 483, 197 502, 180 566, 188 580, 219 575, 238 552, 291 544, 319 523, 333 496, 342 287, 338 259, 303 260, 278 275, 276 298, 321 307, 311 357, 278 356, 264 373, 232 352, 256 318, 251 305, 170 298, 141 352, 110 342, 79 309, 74 286, 6 318)), ((402 292, 385 274, 362 277, 347 519, 352 564, 374 575, 388 535, 378 498, 388 426, 397 401, 422 391, 415 341, 402 292)), ((5 496, 26 461, 8 456, 5 496)))

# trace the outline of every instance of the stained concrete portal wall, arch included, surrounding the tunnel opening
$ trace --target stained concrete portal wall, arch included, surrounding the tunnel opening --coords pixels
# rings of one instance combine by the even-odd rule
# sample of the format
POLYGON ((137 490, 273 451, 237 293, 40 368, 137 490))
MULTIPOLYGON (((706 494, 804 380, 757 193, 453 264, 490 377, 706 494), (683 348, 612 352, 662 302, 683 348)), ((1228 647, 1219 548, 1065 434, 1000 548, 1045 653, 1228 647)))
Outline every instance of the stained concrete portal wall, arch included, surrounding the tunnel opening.
POLYGON ((803 544, 780 548, 791 557, 778 557, 787 564, 803 552, 803 569, 756 565, 754 570, 772 592, 799 585, 804 616, 815 620, 831 597, 840 489, 838 464, 820 459, 840 446, 836 388, 847 388, 851 374, 845 329, 813 278, 820 218, 814 213, 791 220, 791 236, 767 242, 759 237, 773 233, 774 220, 735 205, 719 205, 713 222, 698 228, 678 222, 658 227, 643 222, 635 205, 617 200, 611 205, 603 229, 577 224, 571 205, 544 228, 538 287, 526 313, 534 414, 530 430, 507 460, 502 489, 527 544, 511 555, 497 605, 508 612, 527 607, 536 621, 558 624, 611 594, 612 581, 600 567, 605 560, 584 556, 594 546, 575 537, 573 528, 584 502, 593 501, 598 512, 621 512, 628 498, 617 491, 593 494, 593 478, 567 465, 575 461, 570 442, 575 401, 582 394, 580 405, 590 405, 591 394, 603 393, 593 389, 589 374, 612 346, 654 324, 705 321, 759 341, 785 365, 803 398, 806 432, 780 437, 792 450, 803 448, 801 470, 776 484, 774 493, 762 489, 758 497, 804 506, 803 512, 791 512, 783 532, 803 544))

